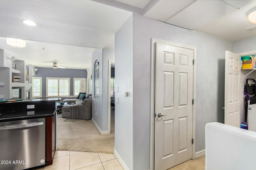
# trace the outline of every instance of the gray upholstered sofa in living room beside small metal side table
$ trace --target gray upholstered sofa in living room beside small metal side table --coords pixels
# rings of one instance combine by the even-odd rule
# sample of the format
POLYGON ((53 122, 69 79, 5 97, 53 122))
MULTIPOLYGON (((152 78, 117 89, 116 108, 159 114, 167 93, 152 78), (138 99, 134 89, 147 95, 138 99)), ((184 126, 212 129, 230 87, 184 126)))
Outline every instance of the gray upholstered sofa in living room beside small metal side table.
MULTIPOLYGON (((82 104, 77 104, 78 119, 90 120, 92 118, 92 98, 84 99, 82 104)), ((62 107, 62 117, 70 118, 70 107, 62 107)))

